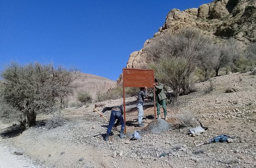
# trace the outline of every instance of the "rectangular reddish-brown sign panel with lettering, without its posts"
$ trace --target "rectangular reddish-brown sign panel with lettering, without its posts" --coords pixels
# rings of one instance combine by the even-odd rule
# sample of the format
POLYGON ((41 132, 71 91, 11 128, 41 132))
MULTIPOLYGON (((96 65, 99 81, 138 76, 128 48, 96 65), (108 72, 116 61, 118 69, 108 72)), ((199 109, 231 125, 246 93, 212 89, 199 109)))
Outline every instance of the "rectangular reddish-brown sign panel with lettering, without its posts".
POLYGON ((153 87, 153 69, 123 68, 123 87, 153 87))

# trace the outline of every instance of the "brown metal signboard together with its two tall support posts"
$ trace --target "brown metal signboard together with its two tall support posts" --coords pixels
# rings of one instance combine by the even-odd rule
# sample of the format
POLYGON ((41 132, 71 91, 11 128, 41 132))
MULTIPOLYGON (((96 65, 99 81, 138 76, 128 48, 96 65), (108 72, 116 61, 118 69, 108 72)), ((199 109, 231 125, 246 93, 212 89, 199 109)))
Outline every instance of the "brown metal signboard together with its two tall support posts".
POLYGON ((156 97, 154 87, 154 69, 123 68, 123 117, 124 132, 126 132, 125 87, 153 87, 154 90, 154 118, 156 119, 156 97))

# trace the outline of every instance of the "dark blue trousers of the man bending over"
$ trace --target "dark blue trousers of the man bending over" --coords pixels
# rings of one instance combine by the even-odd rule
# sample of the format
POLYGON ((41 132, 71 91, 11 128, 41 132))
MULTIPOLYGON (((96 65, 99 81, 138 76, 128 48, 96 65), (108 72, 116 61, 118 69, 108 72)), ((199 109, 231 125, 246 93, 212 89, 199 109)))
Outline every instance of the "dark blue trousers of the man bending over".
POLYGON ((121 114, 121 111, 112 110, 111 115, 110 115, 110 119, 109 119, 109 126, 107 127, 107 134, 110 134, 111 129, 113 128, 116 119, 119 120, 119 122, 121 124, 121 132, 124 131, 124 120, 123 120, 123 116, 121 114))

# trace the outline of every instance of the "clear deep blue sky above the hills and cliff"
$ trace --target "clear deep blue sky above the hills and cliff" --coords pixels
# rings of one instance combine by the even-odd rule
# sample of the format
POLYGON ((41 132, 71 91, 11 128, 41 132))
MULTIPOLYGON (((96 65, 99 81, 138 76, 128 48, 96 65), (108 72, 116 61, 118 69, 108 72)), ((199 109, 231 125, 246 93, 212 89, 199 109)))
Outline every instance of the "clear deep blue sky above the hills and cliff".
POLYGON ((0 0, 0 71, 11 61, 116 80, 173 8, 211 0, 0 0))

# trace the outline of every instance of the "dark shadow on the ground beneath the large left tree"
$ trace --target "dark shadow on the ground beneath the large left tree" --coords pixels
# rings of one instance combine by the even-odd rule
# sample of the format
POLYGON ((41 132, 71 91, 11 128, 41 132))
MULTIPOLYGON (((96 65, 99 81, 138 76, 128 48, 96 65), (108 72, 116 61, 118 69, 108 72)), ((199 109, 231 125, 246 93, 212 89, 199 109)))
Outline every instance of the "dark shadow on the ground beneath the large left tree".
POLYGON ((21 127, 20 125, 13 125, 11 127, 0 130, 0 136, 2 138, 13 138, 21 134, 23 131, 25 131, 25 127, 21 127))

